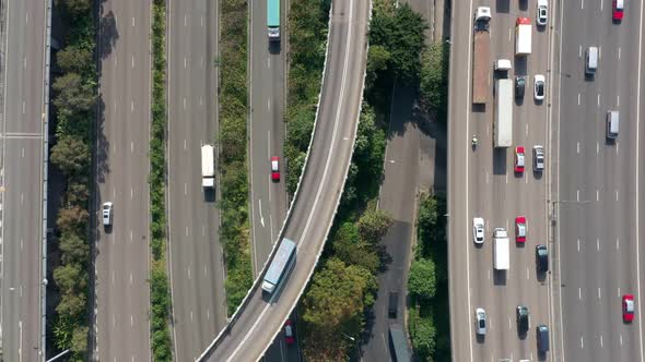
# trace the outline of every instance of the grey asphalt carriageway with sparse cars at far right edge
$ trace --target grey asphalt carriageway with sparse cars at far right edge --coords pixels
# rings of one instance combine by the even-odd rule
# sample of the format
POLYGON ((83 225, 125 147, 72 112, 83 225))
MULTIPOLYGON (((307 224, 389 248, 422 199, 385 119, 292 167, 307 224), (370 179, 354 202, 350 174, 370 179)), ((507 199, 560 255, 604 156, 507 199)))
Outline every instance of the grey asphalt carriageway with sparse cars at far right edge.
POLYGON ((611 1, 563 1, 562 8, 556 228, 562 360, 643 361, 643 3, 626 2, 622 23, 611 20, 611 1), (599 47, 595 77, 584 73, 589 46, 599 47), (620 111, 615 143, 606 141, 610 109, 620 111), (626 293, 636 297, 632 324, 622 322, 626 293))

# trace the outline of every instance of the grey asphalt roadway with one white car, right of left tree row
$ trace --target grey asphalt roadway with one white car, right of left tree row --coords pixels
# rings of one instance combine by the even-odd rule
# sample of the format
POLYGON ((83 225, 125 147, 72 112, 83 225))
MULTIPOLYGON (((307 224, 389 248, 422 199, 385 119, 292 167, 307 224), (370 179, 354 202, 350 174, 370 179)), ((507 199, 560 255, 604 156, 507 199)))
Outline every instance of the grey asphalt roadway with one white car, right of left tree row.
POLYGON ((149 361, 150 2, 101 4, 96 345, 101 361, 149 361), (101 205, 114 203, 104 230, 101 205))

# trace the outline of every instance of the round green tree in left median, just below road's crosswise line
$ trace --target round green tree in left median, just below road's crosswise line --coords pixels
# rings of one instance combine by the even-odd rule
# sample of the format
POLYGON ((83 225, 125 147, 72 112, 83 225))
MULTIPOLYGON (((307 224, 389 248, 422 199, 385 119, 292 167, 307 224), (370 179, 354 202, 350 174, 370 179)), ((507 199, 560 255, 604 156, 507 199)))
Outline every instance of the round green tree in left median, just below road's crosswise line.
POLYGON ((67 177, 86 173, 90 166, 90 147, 81 140, 63 137, 51 147, 51 162, 67 177))

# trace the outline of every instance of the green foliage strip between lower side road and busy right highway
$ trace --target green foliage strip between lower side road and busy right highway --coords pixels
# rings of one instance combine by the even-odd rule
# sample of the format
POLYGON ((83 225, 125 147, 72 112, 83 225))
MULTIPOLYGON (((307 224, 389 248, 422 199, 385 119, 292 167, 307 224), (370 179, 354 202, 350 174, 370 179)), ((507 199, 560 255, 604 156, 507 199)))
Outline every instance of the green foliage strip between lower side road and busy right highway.
POLYGON ((419 245, 408 278, 410 338, 421 361, 450 360, 446 204, 422 195, 417 219, 419 245))

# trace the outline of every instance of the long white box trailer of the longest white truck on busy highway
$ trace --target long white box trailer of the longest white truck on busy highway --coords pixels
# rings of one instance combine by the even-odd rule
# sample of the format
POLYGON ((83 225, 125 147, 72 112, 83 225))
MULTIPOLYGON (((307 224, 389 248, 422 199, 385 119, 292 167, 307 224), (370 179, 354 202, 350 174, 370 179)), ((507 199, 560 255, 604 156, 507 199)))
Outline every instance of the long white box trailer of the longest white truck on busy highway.
POLYGON ((511 147, 513 143, 513 81, 495 81, 495 123, 493 124, 493 145, 511 147))

